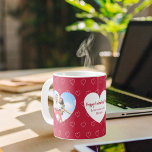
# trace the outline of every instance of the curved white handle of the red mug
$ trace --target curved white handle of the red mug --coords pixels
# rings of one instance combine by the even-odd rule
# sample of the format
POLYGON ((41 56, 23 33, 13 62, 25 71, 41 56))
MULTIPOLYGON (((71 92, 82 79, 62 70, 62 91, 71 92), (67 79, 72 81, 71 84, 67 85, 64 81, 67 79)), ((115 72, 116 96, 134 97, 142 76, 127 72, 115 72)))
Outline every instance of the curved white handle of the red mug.
POLYGON ((51 87, 51 85, 53 84, 53 78, 48 79, 43 87, 42 87, 42 91, 41 91, 41 111, 42 111, 42 115, 44 120, 50 124, 53 125, 53 118, 50 115, 49 112, 49 106, 48 106, 48 96, 49 96, 49 88, 51 87))

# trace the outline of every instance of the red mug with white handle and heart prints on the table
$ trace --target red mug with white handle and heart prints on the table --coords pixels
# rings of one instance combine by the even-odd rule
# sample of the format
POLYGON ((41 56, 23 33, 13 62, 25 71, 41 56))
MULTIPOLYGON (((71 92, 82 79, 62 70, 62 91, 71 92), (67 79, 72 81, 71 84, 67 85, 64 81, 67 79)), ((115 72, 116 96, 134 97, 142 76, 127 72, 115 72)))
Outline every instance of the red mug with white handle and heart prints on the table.
POLYGON ((106 74, 92 71, 56 72, 41 92, 42 115, 62 139, 92 139, 106 134, 106 74), (53 84, 54 118, 48 107, 53 84))

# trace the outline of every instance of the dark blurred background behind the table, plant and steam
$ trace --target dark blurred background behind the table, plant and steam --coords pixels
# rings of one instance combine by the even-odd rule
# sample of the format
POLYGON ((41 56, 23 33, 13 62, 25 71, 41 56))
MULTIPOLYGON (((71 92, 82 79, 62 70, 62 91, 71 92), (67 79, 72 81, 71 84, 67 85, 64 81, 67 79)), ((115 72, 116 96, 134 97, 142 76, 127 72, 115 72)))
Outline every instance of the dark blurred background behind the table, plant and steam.
MULTIPOLYGON (((76 51, 90 33, 65 30, 79 11, 64 0, 0 0, 0 70, 83 65, 76 51)), ((149 7, 139 16, 151 14, 149 7)), ((96 33, 95 46, 99 64, 98 54, 109 44, 96 33)))

